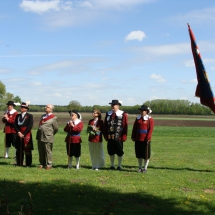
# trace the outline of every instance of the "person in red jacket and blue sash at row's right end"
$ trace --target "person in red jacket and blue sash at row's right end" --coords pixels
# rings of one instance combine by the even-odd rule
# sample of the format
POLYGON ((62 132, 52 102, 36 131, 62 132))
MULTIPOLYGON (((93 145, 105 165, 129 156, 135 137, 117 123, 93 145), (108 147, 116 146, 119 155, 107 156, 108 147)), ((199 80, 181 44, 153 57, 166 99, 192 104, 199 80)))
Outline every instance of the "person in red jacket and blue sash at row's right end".
POLYGON ((146 173, 151 156, 151 137, 154 128, 154 120, 149 113, 151 110, 142 105, 140 110, 141 115, 134 122, 131 139, 135 141, 135 154, 138 159, 138 172, 146 173), (144 159, 144 168, 143 168, 144 159))

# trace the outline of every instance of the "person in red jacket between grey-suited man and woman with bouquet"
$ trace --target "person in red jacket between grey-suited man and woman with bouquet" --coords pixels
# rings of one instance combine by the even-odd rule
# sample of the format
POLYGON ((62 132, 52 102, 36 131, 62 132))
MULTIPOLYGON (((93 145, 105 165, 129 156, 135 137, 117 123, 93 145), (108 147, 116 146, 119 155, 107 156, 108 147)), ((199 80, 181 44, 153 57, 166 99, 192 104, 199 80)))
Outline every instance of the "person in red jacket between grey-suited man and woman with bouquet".
POLYGON ((64 131, 67 132, 65 139, 68 155, 68 168, 72 168, 72 157, 76 159, 76 169, 79 169, 79 161, 81 156, 81 136, 84 124, 81 121, 81 114, 77 110, 69 111, 71 119, 67 122, 64 131))

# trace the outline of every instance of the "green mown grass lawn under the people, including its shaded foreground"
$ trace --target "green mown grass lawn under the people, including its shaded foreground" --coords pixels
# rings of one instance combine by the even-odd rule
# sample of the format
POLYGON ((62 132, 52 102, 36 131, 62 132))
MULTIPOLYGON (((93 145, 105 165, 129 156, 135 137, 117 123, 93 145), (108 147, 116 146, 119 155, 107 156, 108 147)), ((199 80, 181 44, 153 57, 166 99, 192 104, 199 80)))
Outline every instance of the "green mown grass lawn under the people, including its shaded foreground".
MULTIPOLYGON (((28 199, 28 192, 33 196, 34 215, 215 214, 215 128, 155 127, 146 174, 136 172, 131 128, 124 144, 123 171, 109 170, 105 142, 106 165, 99 171, 91 170, 85 131, 81 168, 66 169, 62 127, 55 137, 50 171, 37 168, 36 141, 30 169, 15 167, 13 159, 1 157, 1 195, 6 179, 10 214, 20 211, 20 202, 28 199)), ((35 133, 33 130, 34 137, 35 133)), ((3 156, 3 134, 0 141, 3 156)), ((13 153, 11 149, 10 155, 13 153)))

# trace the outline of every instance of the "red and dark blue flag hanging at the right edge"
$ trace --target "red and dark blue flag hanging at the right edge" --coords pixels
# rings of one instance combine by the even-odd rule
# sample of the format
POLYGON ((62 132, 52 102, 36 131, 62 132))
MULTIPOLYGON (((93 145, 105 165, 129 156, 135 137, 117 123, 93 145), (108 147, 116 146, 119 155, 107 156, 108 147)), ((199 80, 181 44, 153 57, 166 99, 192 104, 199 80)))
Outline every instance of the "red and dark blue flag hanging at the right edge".
POLYGON ((191 49, 193 53, 193 59, 196 66, 196 76, 197 76, 197 87, 195 96, 200 98, 200 103, 209 107, 215 114, 215 98, 211 90, 211 86, 208 80, 207 72, 202 62, 199 48, 196 44, 195 36, 188 24, 188 31, 191 41, 191 49))

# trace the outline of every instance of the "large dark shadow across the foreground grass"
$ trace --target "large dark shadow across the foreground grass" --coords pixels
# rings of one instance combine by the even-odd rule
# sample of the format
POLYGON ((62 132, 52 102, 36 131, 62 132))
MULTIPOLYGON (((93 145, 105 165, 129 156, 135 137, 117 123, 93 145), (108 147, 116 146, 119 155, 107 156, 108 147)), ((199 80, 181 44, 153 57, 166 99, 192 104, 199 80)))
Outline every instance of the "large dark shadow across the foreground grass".
MULTIPOLYGON (((100 181, 101 185, 105 183, 100 181)), ((202 215, 214 214, 215 206, 205 201, 162 199, 144 192, 120 193, 110 187, 87 185, 87 180, 52 180, 51 183, 6 181, 10 214, 20 211, 20 202, 31 193, 34 215, 202 215)), ((3 192, 4 181, 0 181, 3 192)))

